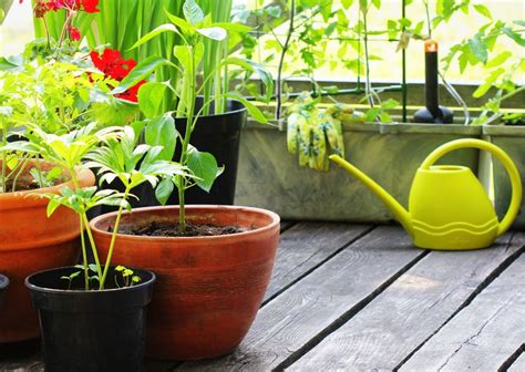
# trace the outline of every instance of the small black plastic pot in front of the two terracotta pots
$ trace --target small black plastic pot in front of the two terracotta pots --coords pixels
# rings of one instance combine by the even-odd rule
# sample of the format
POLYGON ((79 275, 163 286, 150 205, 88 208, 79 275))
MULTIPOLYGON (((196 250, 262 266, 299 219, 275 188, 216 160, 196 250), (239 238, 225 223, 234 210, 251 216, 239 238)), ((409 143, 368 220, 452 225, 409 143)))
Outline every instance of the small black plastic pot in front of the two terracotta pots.
MULTIPOLYGON (((134 270, 142 281, 133 287, 68 290, 68 280, 60 278, 78 270, 59 268, 25 278, 39 313, 45 371, 141 371, 145 308, 155 275, 134 270)), ((107 278, 113 282, 113 270, 107 278)), ((82 276, 76 279, 83 281, 82 276)))

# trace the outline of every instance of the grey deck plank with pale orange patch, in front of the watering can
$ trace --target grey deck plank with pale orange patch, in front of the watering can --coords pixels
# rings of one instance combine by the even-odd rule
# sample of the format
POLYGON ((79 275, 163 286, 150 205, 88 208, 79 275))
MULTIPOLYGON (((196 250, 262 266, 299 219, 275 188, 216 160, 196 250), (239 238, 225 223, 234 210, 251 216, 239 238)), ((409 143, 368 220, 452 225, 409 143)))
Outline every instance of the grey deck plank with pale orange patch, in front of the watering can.
POLYGON ((484 250, 432 251, 289 370, 393 370, 515 258, 523 245, 511 237, 484 250))

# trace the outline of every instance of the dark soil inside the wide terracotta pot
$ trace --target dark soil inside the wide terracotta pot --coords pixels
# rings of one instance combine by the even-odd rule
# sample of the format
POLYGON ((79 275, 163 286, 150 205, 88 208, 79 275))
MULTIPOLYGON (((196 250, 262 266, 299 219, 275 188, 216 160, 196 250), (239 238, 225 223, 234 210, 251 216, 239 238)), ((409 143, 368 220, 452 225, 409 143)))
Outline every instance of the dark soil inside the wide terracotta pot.
MULTIPOLYGON (((228 235, 248 231, 237 226, 194 225, 186 223, 186 231, 178 231, 178 224, 151 223, 145 226, 128 226, 119 229, 119 232, 136 236, 153 237, 199 237, 228 235)), ((111 231, 110 231, 111 232, 111 231)))

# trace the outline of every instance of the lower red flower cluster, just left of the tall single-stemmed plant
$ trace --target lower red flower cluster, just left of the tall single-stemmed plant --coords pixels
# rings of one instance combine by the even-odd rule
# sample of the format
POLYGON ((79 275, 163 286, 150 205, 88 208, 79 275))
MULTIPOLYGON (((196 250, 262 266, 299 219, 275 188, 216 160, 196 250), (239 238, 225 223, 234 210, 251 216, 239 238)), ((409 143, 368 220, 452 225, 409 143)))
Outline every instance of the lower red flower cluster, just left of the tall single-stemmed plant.
MULTIPOLYGON (((132 71, 136 62, 133 59, 124 60, 121 52, 113 49, 105 49, 104 52, 99 54, 95 51, 90 53, 91 61, 96 69, 102 71, 104 75, 110 76, 113 80, 122 81, 130 71, 132 71)), ((115 96, 122 100, 137 102, 137 92, 142 84, 146 83, 145 80, 140 81, 124 93, 116 94, 115 96)))

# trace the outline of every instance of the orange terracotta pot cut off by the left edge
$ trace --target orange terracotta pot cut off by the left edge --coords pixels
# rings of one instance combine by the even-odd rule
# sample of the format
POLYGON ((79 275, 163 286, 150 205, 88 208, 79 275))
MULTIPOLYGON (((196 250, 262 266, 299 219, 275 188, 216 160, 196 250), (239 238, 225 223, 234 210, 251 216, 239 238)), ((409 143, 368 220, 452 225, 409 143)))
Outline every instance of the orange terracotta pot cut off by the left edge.
MULTIPOLYGON (((94 175, 89 169, 81 170, 78 177, 81 186, 94 185, 94 175)), ((39 337, 37 312, 23 283, 25 277, 75 261, 79 218, 65 207, 58 208, 48 218, 48 199, 34 195, 58 193, 64 186, 73 187, 70 182, 35 190, 0 194, 0 271, 11 281, 0 311, 0 343, 39 337)))

